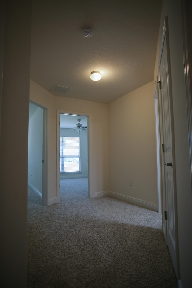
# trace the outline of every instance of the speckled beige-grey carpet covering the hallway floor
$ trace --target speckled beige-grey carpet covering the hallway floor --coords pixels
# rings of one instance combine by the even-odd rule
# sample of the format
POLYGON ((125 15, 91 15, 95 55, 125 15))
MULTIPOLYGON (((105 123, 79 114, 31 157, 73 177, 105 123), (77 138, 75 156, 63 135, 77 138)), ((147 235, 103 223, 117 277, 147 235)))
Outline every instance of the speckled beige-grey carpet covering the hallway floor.
POLYGON ((177 287, 161 215, 110 196, 87 179, 61 180, 48 207, 28 191, 28 288, 177 287))

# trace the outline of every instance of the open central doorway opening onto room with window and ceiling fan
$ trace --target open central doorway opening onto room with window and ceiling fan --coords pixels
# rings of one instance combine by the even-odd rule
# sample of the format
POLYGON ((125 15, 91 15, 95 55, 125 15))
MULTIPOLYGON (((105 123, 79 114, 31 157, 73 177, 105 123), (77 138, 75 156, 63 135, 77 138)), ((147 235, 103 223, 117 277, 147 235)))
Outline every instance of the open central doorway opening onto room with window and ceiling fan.
MULTIPOLYGON (((89 196, 88 185, 88 116, 59 113, 59 189, 62 194, 89 196)), ((63 195, 64 196, 64 195, 63 195)), ((58 201, 59 202, 59 201, 58 201)))

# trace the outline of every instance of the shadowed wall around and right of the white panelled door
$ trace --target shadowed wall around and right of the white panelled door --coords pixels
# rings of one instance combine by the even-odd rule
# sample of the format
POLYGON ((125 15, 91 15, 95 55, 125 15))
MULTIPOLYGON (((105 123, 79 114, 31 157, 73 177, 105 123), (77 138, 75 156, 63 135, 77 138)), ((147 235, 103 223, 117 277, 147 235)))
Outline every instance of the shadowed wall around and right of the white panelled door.
POLYGON ((187 124, 187 104, 183 67, 182 15, 180 0, 164 0, 159 30, 154 81, 158 75, 159 51, 164 25, 168 16, 173 118, 175 132, 175 169, 179 229, 180 287, 192 287, 192 194, 187 124))

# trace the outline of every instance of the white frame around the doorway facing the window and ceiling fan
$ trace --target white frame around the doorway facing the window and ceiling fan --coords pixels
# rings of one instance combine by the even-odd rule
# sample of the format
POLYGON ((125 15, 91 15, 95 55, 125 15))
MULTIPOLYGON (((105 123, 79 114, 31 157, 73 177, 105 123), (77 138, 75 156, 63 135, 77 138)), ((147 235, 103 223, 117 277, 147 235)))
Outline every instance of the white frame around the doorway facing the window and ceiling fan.
POLYGON ((57 110, 57 203, 60 201, 60 170, 59 170, 59 163, 60 163, 60 155, 59 155, 59 147, 60 147, 60 114, 68 114, 68 115, 76 115, 76 116, 86 116, 87 117, 87 156, 88 156, 88 197, 91 198, 91 179, 90 179, 90 139, 91 139, 91 132, 90 132, 90 123, 91 123, 91 114, 82 113, 82 112, 72 112, 66 110, 57 110))

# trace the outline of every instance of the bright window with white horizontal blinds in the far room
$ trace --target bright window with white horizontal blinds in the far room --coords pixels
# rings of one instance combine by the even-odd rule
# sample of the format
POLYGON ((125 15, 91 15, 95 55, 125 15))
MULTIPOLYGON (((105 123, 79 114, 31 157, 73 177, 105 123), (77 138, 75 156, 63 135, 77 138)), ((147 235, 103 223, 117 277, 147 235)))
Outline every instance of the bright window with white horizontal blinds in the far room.
POLYGON ((80 172, 80 137, 60 136, 60 173, 80 172))

